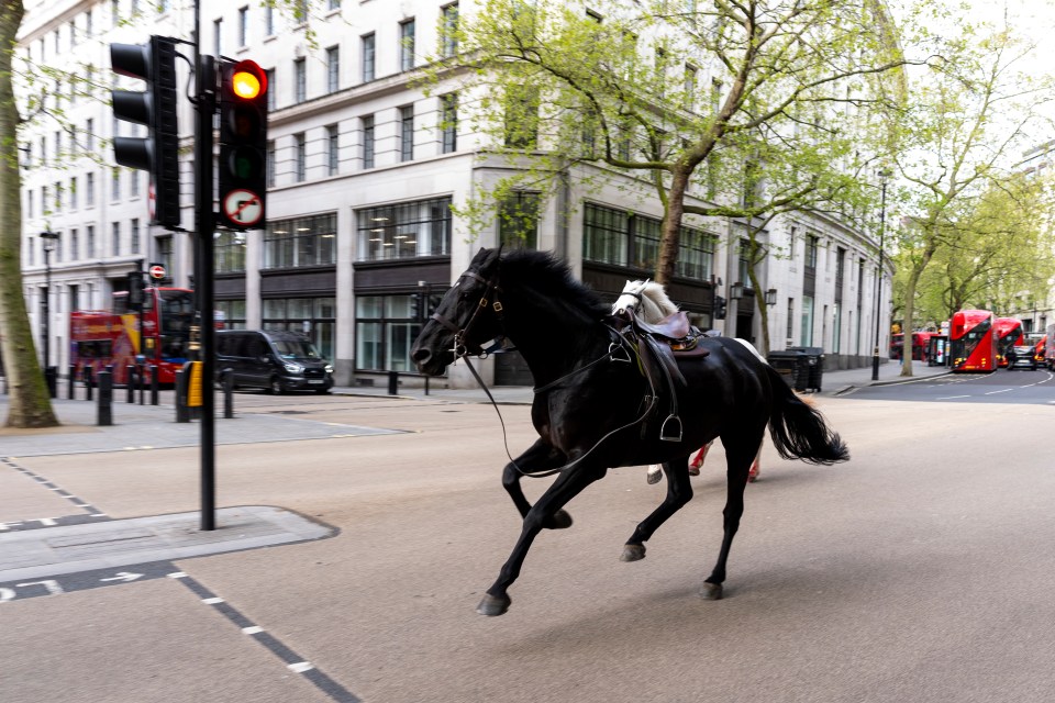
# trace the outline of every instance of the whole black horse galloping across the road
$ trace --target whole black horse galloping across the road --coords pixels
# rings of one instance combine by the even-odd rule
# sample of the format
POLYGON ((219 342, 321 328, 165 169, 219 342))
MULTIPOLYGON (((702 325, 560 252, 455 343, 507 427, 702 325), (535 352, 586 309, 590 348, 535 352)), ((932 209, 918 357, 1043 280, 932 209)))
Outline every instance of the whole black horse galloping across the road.
POLYGON ((414 342, 418 369, 437 375, 456 358, 480 355, 487 342, 507 337, 535 380, 531 414, 538 439, 502 473, 523 529, 477 607, 484 615, 509 610, 507 590, 535 536, 543 527, 570 526, 563 507, 609 467, 663 462, 667 476, 663 503, 623 548, 621 558, 635 561, 645 556, 645 540, 692 498, 692 450, 721 437, 728 459, 724 538, 700 593, 719 599, 744 512, 747 470, 766 425, 784 458, 825 465, 849 458, 820 413, 747 345, 729 337, 702 338, 707 356, 677 361, 684 383, 656 383, 642 372, 638 347, 617 332, 615 322, 610 305, 552 255, 480 249, 414 342), (676 398, 670 398, 671 388, 676 398), (670 437, 665 424, 673 406, 679 409, 684 428, 679 438, 670 437), (532 505, 521 476, 551 471, 556 480, 532 505))

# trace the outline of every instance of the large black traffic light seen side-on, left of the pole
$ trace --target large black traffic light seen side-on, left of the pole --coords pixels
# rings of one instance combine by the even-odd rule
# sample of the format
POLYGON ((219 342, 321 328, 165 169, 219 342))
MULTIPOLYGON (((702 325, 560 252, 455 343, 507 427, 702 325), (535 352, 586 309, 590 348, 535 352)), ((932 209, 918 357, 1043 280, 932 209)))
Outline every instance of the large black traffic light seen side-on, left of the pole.
POLYGON ((112 90, 113 116, 144 124, 146 137, 114 136, 118 164, 151 172, 152 224, 179 226, 179 122, 176 113, 176 42, 111 44, 114 72, 146 81, 145 91, 112 90))

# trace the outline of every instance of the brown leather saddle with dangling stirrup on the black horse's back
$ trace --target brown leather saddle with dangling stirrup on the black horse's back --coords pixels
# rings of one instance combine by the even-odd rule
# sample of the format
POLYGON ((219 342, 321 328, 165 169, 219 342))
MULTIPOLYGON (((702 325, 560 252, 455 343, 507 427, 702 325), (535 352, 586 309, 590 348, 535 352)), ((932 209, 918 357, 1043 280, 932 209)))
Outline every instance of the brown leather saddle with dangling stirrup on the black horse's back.
MULTIPOLYGON (((702 359, 710 352, 699 345, 700 337, 707 336, 689 324, 689 316, 684 311, 671 313, 656 323, 647 323, 634 314, 632 309, 623 311, 625 316, 617 316, 622 324, 620 334, 633 336, 632 342, 638 349, 641 371, 653 387, 662 378, 670 398, 670 413, 659 428, 659 439, 664 442, 681 442, 681 419, 678 416, 678 393, 675 386, 686 388, 688 383, 677 359, 702 359)), ((654 402, 654 399, 649 399, 654 402)))

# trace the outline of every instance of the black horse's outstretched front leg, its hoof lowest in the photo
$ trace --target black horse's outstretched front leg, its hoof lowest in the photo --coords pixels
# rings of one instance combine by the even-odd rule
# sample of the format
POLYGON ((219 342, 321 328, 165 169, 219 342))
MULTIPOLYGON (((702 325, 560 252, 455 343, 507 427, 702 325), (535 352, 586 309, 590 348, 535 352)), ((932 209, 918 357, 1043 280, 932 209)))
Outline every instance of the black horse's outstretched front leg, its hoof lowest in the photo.
POLYGON ((564 471, 557 477, 557 480, 546 489, 546 492, 532 505, 531 510, 524 516, 524 524, 520 532, 520 538, 513 546, 513 551, 509 555, 502 570, 498 574, 498 580, 487 590, 480 604, 476 606, 476 612, 481 615, 501 615, 509 610, 512 602, 507 593, 509 587, 520 576, 520 569, 528 557, 528 550, 531 544, 542 531, 548 526, 549 522, 568 501, 579 494, 587 486, 604 476, 604 467, 579 465, 568 471, 564 471))

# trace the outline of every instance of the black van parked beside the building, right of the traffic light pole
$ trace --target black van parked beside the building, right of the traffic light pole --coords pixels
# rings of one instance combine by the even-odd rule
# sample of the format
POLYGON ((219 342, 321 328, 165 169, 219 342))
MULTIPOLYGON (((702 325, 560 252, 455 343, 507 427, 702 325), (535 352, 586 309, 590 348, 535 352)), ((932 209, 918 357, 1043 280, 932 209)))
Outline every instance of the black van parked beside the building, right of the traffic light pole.
POLYGON ((216 382, 230 373, 235 388, 271 393, 333 388, 333 367, 307 336, 297 332, 218 330, 216 382))

